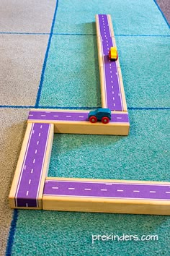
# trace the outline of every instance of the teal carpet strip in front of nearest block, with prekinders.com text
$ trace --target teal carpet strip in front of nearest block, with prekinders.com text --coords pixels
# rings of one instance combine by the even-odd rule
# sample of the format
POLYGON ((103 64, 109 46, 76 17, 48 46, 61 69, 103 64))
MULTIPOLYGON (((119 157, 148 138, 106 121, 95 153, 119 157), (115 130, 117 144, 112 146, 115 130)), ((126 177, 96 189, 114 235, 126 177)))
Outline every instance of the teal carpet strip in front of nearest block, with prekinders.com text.
POLYGON ((169 255, 168 216, 19 210, 14 255, 169 255), (156 234, 158 241, 94 241, 96 234, 156 234))

